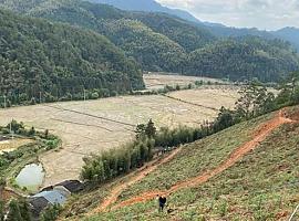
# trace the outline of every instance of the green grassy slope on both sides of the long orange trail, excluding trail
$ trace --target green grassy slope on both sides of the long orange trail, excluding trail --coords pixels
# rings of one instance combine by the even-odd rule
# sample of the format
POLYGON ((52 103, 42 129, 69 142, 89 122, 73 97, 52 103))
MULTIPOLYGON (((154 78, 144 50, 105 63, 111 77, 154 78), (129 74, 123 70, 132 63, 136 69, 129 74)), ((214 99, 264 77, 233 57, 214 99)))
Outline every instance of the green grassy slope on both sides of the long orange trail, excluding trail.
MULTIPOLYGON (((173 161, 131 187, 120 200, 158 186, 165 189, 194 177, 195 172, 216 167, 233 149, 249 140, 250 130, 269 117, 186 146, 173 161), (166 185, 161 180, 166 180, 166 185)), ((168 199, 169 208, 174 209, 172 214, 159 214, 156 202, 150 201, 89 220, 286 220, 299 201, 298 133, 298 124, 282 126, 221 175, 200 187, 172 194, 168 199)))

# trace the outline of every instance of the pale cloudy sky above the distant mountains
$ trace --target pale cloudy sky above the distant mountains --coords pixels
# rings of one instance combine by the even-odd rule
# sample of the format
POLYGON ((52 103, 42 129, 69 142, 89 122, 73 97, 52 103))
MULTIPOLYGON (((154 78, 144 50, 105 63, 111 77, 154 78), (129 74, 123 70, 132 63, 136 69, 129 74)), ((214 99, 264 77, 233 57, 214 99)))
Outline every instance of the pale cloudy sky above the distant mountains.
POLYGON ((276 30, 299 28, 299 0, 156 0, 169 8, 184 9, 202 21, 230 27, 276 30))

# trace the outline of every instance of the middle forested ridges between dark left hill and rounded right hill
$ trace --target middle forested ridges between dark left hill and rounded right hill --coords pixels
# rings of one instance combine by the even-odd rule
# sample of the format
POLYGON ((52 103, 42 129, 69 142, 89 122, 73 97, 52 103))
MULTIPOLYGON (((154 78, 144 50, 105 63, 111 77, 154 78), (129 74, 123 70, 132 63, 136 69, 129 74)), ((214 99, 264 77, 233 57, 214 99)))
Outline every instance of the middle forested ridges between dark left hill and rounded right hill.
POLYGON ((167 14, 126 12, 106 4, 76 1, 32 13, 93 29, 147 71, 181 72, 188 55, 186 52, 216 40, 208 31, 167 14))

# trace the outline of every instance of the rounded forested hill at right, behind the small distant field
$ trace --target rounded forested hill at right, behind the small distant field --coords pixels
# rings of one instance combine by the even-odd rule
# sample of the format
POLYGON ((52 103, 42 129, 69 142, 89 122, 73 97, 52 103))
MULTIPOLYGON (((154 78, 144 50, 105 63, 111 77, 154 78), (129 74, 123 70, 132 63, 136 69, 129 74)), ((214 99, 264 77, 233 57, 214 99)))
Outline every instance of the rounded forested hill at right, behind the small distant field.
POLYGON ((245 36, 219 41, 210 46, 196 50, 189 56, 188 74, 230 80, 262 82, 279 81, 285 74, 298 70, 298 54, 290 44, 281 40, 265 40, 245 36))

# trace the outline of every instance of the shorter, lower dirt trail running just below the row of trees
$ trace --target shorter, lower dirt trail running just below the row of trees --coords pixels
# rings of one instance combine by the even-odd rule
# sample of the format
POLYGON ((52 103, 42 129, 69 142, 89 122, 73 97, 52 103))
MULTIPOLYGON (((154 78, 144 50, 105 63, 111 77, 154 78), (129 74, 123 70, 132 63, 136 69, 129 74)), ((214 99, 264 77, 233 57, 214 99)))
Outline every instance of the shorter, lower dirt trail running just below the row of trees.
POLYGON ((105 198, 104 201, 100 204, 100 207, 96 208, 94 211, 92 211, 91 214, 105 211, 111 204, 113 204, 117 201, 117 198, 125 189, 127 189, 130 186, 132 186, 132 185, 138 182, 140 180, 142 180, 143 178, 145 178, 148 173, 154 171, 158 166, 172 160, 179 152, 181 149, 182 149, 182 147, 176 148, 167 157, 165 157, 163 159, 153 160, 152 162, 145 165, 140 170, 137 170, 136 176, 133 176, 130 180, 114 187, 111 190, 110 196, 107 198, 105 198))

